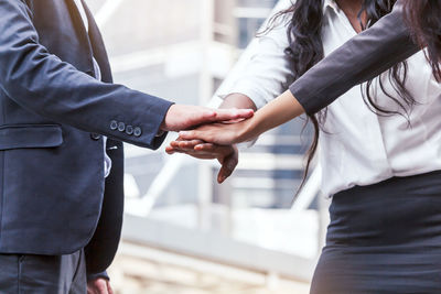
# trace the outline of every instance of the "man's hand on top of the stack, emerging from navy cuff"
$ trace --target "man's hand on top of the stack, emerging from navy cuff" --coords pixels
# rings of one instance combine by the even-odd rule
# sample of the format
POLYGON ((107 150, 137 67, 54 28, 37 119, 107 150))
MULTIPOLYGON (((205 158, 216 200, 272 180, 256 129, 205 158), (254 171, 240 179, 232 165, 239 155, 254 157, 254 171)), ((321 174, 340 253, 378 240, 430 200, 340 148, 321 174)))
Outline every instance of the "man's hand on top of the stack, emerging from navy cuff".
POLYGON ((204 123, 249 119, 252 116, 252 109, 209 109, 202 106, 172 105, 161 129, 181 131, 204 123))

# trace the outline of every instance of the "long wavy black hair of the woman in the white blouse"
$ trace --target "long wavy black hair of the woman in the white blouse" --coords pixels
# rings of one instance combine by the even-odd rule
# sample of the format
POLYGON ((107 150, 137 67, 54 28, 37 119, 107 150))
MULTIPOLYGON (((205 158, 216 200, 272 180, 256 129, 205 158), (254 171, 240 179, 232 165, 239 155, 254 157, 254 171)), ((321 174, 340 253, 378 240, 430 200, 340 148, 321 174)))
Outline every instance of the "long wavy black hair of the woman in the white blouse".
MULTIPOLYGON (((372 26, 380 18, 388 14, 391 11, 395 2, 396 0, 364 0, 362 11, 358 13, 359 20, 362 13, 366 12, 367 15, 367 24, 362 25, 363 29, 372 26)), ((284 52, 291 62, 293 78, 295 80, 324 57, 322 41, 322 28, 324 21, 323 0, 297 0, 295 3, 292 3, 289 9, 280 11, 273 18, 271 18, 266 31, 271 30, 276 25, 277 20, 287 20, 287 18, 289 18, 287 33, 290 46, 287 47, 284 52)), ((263 33, 266 31, 263 31, 263 33)), ((384 109, 374 101, 374 97, 370 92, 373 80, 367 83, 365 89, 362 86, 362 94, 365 104, 372 111, 379 116, 391 116, 397 113, 402 116, 408 115, 406 106, 412 106, 416 104, 416 101, 405 86, 407 78, 407 63, 404 62, 399 65, 396 65, 388 72, 387 76, 395 92, 389 94, 386 90, 381 78, 378 80, 378 85, 386 96, 395 101, 395 104, 399 106, 399 109, 404 110, 404 113, 384 109), (402 101, 396 98, 396 94, 399 94, 399 96, 402 98, 402 101)), ((310 149, 306 152, 306 166, 298 193, 305 183, 312 159, 316 152, 320 128, 323 126, 326 119, 326 112, 327 109, 325 108, 316 115, 308 116, 306 123, 308 121, 312 122, 314 127, 314 138, 310 149)))

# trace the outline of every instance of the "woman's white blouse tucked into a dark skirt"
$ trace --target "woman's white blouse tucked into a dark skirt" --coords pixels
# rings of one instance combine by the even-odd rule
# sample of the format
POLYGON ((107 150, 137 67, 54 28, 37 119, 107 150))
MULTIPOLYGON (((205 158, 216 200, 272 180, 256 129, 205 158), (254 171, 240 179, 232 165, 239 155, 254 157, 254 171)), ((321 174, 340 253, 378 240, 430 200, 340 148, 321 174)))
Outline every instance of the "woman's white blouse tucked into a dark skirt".
MULTIPOLYGON (((325 0, 323 13, 322 39, 329 55, 356 32, 335 1, 325 0)), ((244 94, 262 107, 286 90, 283 85, 292 79, 283 53, 289 45, 286 32, 286 24, 280 24, 259 39, 256 54, 230 92, 244 94)), ((406 87, 418 101, 410 111, 410 127, 401 116, 373 113, 363 101, 359 86, 329 107, 323 126, 326 132, 321 131, 319 148, 321 190, 325 196, 392 176, 441 170, 441 86, 422 52, 409 58, 408 66, 406 87)), ((396 94, 387 74, 380 78, 388 91, 396 94)), ((374 89, 379 106, 404 112, 378 87, 374 89)), ((398 94, 395 96, 400 99, 398 94)))

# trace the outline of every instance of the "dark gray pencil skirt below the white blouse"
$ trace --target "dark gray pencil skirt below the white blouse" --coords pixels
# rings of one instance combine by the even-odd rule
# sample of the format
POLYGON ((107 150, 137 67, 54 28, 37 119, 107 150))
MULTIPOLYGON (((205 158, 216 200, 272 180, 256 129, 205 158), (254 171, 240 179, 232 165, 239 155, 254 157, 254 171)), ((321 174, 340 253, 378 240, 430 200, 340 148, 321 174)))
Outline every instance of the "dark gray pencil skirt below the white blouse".
POLYGON ((441 171, 334 195, 312 294, 441 293, 441 171))

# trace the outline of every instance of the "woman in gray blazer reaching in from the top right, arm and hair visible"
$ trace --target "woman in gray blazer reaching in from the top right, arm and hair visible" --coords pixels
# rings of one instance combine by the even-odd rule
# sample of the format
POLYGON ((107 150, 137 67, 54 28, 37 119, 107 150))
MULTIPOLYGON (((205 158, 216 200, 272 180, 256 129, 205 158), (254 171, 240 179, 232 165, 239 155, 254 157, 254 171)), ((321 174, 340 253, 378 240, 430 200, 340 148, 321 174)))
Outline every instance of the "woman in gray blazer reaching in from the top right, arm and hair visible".
MULTIPOLYGON (((441 3, 431 0, 398 0, 394 10, 369 30, 347 41, 295 80, 289 90, 260 111, 245 134, 243 124, 224 128, 214 143, 237 143, 280 126, 306 112, 316 113, 353 86, 369 80, 427 47, 433 75, 440 80, 441 3), (417 42, 416 42, 417 41, 417 42), (277 115, 270 115, 277 113, 277 115), (239 132, 240 130, 240 132, 239 132)), ((248 121, 244 124, 250 123, 248 121)), ((184 133, 194 138, 196 133, 184 133)), ((208 132, 197 133, 202 139, 208 132)))

